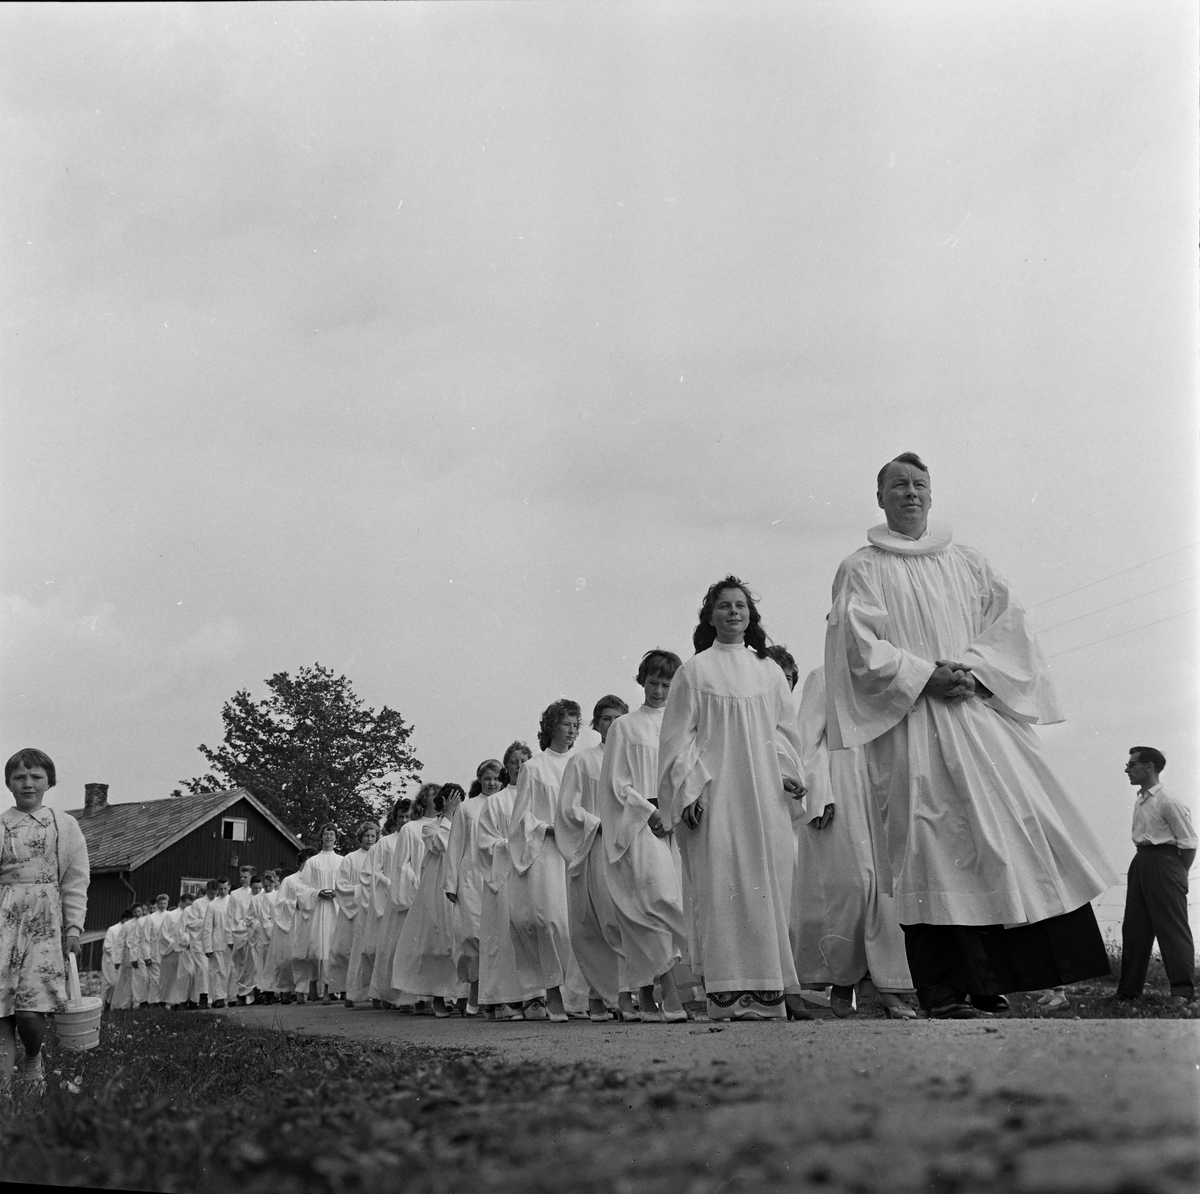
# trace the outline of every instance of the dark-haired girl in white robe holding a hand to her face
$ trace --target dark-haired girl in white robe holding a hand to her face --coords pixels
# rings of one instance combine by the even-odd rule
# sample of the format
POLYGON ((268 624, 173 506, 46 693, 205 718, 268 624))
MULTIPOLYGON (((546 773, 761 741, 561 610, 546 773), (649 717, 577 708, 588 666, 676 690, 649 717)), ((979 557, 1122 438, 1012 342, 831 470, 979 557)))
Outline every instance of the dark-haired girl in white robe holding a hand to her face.
POLYGON ((439 1019, 450 1015, 446 1003, 466 1001, 469 990, 455 967, 454 905, 445 898, 450 826, 466 794, 457 784, 443 785, 434 802, 437 816, 421 829, 420 881, 391 970, 392 988, 432 995, 433 1014, 439 1019))

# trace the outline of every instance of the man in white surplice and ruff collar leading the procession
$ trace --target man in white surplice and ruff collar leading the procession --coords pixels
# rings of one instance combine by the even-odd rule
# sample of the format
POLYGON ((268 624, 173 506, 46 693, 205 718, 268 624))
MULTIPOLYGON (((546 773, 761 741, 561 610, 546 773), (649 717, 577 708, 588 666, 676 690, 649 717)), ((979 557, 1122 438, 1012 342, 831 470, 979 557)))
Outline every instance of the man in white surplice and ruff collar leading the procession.
MULTIPOLYGON (((887 524, 842 562, 826 631, 829 746, 866 746, 913 984, 937 1018, 1109 973, 1088 901, 1114 882, 1033 732, 1061 721, 1021 606, 929 523, 912 452, 878 475, 887 524)), ((886 887, 883 884, 887 884, 886 887)))

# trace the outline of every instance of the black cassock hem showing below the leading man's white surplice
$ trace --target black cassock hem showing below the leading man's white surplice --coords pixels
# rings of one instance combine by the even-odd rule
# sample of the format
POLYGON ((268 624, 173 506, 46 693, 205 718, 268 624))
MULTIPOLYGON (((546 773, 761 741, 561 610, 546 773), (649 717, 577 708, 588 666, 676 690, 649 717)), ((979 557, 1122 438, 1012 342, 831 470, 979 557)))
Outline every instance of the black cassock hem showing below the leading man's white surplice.
POLYGON ((905 924, 912 985, 929 1010, 965 995, 1040 991, 1111 973, 1091 904, 1024 924, 905 924))

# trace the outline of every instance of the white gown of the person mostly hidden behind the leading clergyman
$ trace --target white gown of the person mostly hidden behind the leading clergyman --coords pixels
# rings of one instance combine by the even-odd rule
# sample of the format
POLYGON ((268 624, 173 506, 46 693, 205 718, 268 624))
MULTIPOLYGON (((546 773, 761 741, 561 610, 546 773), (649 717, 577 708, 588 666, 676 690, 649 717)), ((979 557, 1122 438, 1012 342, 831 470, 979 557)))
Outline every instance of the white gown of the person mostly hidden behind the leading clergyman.
POLYGON ((804 682, 799 733, 808 796, 797 822, 792 883, 792 952, 800 983, 853 986, 868 973, 877 990, 911 991, 895 901, 875 878, 883 826, 862 748, 830 751, 826 740, 824 668, 804 682), (826 808, 833 818, 814 829, 826 808))

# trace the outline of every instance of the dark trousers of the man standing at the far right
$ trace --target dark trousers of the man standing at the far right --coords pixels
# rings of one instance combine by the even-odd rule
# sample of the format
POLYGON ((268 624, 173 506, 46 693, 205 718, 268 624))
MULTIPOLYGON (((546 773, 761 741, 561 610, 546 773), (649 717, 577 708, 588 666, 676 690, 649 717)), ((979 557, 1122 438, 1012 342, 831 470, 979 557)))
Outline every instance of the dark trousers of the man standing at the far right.
POLYGON ((1195 948, 1188 924, 1188 868, 1177 846, 1139 846, 1129 864, 1118 995, 1141 995, 1156 937, 1171 995, 1190 998, 1195 994, 1195 948))

